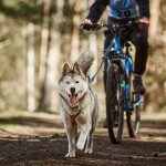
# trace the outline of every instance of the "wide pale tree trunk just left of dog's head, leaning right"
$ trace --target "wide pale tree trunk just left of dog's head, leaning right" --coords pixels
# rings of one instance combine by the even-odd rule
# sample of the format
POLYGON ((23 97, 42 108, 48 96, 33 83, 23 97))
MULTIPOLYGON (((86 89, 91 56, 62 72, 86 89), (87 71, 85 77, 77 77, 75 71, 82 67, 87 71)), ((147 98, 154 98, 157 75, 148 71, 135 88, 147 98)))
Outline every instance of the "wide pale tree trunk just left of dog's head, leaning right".
POLYGON ((48 56, 48 69, 45 75, 45 96, 44 96, 44 107, 50 110, 56 110, 56 94, 58 94, 58 77, 59 75, 59 63, 61 60, 61 34, 59 30, 59 24, 61 23, 61 18, 63 17, 64 1, 56 1, 56 14, 52 15, 53 25, 51 30, 51 44, 49 49, 48 56))

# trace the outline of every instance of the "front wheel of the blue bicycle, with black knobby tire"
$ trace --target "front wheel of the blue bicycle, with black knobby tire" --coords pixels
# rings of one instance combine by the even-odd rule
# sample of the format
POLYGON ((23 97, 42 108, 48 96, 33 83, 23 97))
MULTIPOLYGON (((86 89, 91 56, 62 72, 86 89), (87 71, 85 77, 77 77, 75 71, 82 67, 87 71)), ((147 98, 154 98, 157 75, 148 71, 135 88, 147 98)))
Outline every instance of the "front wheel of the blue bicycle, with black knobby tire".
POLYGON ((124 102, 121 76, 122 73, 117 64, 108 66, 106 80, 106 120, 108 136, 113 144, 118 144, 122 141, 124 125, 124 102), (118 105, 115 104, 116 102, 118 105))

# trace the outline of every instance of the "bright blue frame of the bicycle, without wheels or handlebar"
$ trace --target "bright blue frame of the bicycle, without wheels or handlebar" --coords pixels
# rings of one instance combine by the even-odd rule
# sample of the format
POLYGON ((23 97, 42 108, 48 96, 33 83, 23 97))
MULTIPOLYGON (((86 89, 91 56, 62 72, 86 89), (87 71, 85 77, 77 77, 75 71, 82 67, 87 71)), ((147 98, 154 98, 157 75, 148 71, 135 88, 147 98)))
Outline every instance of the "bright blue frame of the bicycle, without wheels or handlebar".
MULTIPOLYGON (((121 65, 121 68, 123 68, 123 72, 125 72, 125 75, 127 77, 129 76, 129 74, 134 74, 134 68, 133 68, 132 60, 131 60, 129 55, 122 50, 120 37, 115 37, 114 40, 111 42, 111 45, 107 48, 107 50, 105 52, 106 61, 107 61, 107 56, 108 56, 108 53, 111 52, 111 50, 115 51, 115 55, 117 58, 117 59, 116 58, 111 59, 111 64, 115 63, 115 61, 117 63, 117 61, 118 61, 118 64, 121 65)), ((121 86, 123 87, 124 96, 125 96, 124 97, 124 104, 125 104, 124 108, 126 112, 132 112, 136 106, 139 106, 143 103, 143 96, 142 96, 142 94, 137 94, 138 95, 137 101, 134 101, 131 105, 128 102, 129 101, 128 100, 129 84, 126 81, 123 81, 121 83, 121 86)))

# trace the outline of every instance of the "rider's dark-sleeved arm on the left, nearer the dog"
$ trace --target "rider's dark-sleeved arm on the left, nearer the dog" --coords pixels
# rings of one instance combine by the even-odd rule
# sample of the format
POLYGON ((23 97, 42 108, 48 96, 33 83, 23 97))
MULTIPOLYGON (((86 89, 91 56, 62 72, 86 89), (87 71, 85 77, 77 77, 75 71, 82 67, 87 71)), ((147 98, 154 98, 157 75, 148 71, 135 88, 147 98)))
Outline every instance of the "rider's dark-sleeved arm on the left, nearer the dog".
POLYGON ((108 4, 108 0, 95 0, 95 2, 90 8, 90 13, 86 19, 92 22, 97 22, 108 4))

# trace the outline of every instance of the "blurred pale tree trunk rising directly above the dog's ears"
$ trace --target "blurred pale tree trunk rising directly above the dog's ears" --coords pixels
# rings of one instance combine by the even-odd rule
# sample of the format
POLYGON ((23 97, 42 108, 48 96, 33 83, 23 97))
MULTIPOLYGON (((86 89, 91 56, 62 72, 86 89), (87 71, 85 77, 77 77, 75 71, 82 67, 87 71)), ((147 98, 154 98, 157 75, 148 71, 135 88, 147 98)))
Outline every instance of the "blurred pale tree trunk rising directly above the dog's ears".
POLYGON ((74 15, 73 15, 73 33, 72 33, 72 41, 71 41, 71 62, 75 62, 80 54, 80 1, 74 0, 74 15))

